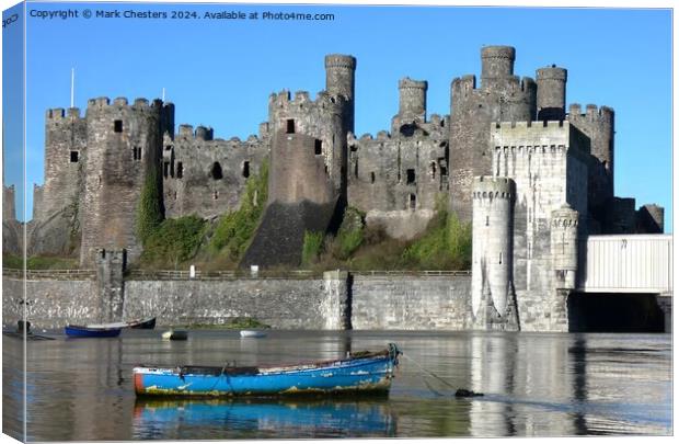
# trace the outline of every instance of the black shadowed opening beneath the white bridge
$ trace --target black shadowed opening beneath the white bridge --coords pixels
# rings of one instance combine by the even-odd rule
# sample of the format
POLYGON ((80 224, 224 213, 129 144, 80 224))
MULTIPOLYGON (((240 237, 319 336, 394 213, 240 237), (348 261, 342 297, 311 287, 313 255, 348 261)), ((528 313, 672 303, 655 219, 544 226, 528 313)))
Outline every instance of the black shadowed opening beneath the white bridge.
POLYGON ((661 333, 664 314, 653 294, 573 293, 568 330, 587 333, 661 333))

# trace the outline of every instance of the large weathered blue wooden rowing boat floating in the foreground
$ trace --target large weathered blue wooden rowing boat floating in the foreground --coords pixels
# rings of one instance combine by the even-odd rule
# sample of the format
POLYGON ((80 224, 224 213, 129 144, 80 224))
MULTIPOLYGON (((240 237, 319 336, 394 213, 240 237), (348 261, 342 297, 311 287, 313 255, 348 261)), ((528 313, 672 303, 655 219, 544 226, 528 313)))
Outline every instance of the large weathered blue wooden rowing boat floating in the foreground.
POLYGON ((279 396, 388 392, 401 352, 395 344, 343 360, 277 367, 135 367, 137 396, 279 396))

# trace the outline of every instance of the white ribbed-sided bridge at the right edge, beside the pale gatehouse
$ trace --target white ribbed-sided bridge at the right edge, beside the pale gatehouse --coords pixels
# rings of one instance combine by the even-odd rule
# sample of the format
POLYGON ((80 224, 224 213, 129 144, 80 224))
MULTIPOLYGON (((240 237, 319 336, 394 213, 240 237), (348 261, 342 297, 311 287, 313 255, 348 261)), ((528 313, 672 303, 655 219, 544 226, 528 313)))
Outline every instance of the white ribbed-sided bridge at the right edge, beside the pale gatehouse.
MULTIPOLYGON (((580 242, 576 292, 582 298, 653 296, 671 330, 672 235, 589 236, 580 242)), ((657 310, 657 308, 656 308, 657 310)))

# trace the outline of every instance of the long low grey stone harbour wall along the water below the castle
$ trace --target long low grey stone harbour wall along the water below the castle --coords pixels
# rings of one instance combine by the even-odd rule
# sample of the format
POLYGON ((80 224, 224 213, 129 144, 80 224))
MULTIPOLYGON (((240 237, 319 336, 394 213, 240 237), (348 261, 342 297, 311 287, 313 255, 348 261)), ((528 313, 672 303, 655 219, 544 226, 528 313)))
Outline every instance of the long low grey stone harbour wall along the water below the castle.
MULTIPOLYGON (((469 275, 353 275, 325 272, 315 277, 131 278, 123 282, 119 310, 100 296, 94 278, 28 278, 25 300, 36 328, 66 323, 157 317, 159 326, 221 325, 255 318, 277 329, 309 330, 462 330, 469 275)), ((23 282, 3 276, 2 322, 21 318, 23 282)))

